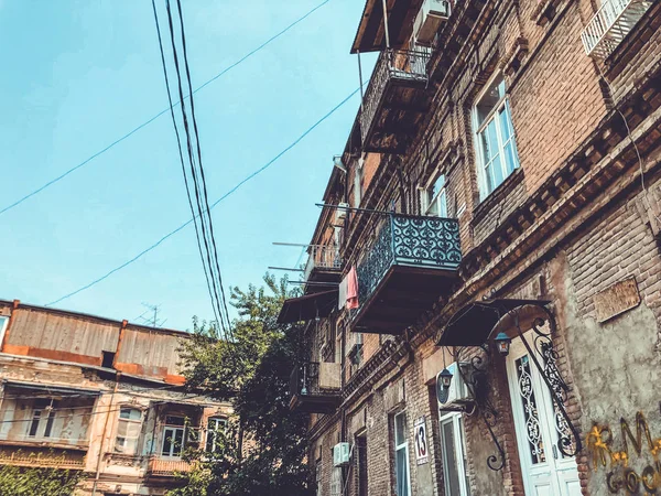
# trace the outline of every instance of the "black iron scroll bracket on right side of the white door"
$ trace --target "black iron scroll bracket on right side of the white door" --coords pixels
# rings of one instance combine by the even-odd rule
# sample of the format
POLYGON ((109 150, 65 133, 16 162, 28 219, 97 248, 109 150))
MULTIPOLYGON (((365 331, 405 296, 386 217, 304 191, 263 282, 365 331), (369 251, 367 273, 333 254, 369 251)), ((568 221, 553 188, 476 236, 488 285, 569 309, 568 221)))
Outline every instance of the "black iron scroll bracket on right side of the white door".
POLYGON ((572 457, 581 451, 582 443, 581 436, 565 410, 565 401, 567 399, 570 387, 557 369, 559 355, 553 347, 552 341, 556 331, 555 319, 553 317, 553 313, 545 305, 539 304, 534 306, 543 312, 544 317, 538 316, 532 322, 532 332, 534 333, 533 346, 525 339, 523 331, 521 330, 519 320, 520 308, 512 311, 514 325, 532 363, 540 371, 540 376, 551 392, 551 399, 553 400, 553 418, 555 422, 554 427, 559 438, 557 449, 564 456, 572 457), (544 331, 544 328, 548 328, 548 331, 544 331), (542 358, 543 364, 540 363, 539 357, 542 358))

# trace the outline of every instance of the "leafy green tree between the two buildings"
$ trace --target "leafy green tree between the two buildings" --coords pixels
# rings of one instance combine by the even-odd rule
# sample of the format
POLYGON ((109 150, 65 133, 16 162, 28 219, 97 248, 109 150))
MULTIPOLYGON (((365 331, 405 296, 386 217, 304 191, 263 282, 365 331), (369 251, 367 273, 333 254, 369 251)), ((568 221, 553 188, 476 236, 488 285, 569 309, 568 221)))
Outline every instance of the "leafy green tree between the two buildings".
POLYGON ((302 346, 302 328, 277 322, 293 295, 285 278, 264 276, 266 287, 234 288, 239 317, 231 338, 194 320, 185 345, 189 387, 232 401, 236 418, 215 433, 214 453, 188 452, 195 468, 171 496, 307 496, 307 416, 289 409, 289 377, 302 346))

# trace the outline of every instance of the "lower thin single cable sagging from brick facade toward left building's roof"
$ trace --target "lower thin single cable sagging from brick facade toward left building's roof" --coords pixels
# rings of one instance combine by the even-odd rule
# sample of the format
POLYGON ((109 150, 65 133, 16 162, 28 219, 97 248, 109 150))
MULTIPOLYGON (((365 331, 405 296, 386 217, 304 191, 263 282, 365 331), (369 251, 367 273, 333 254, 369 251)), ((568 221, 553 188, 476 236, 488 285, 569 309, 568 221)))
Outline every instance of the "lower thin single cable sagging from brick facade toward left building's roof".
MULTIPOLYGON (((354 91, 351 91, 346 98, 344 98, 339 104, 337 104, 330 111, 328 111, 324 117, 322 117, 319 120, 317 120, 314 125, 312 125, 310 128, 307 128, 307 130, 305 132, 303 132, 303 134, 301 134, 299 138, 296 138, 291 144, 289 144, 284 150, 282 150, 280 153, 278 153, 275 157, 273 157, 271 160, 269 160, 264 165, 262 165, 261 168, 259 168, 258 170, 256 170, 254 172, 252 172, 250 175, 248 175, 247 177, 245 177, 242 181, 240 181, 236 186, 234 186, 231 190, 229 190, 227 193, 225 193, 223 196, 220 196, 215 203, 212 204, 210 209, 215 208, 216 205, 218 205, 220 202, 223 202, 225 198, 227 198, 228 196, 230 196, 231 194, 234 194, 237 190, 239 190, 243 184, 246 184, 248 181, 252 180, 253 177, 256 177, 257 175, 261 174, 263 171, 266 171, 267 169, 269 169, 273 163, 275 163, 278 161, 278 159, 280 159, 282 155, 284 155, 286 152, 289 152, 292 148, 294 148, 296 144, 299 144, 307 134, 310 134, 314 129, 316 129, 324 120, 326 120, 328 117, 330 117, 337 109, 339 109, 343 105, 345 105, 347 101, 349 101, 351 99, 353 96, 355 96, 358 91, 360 90, 360 88, 356 88, 354 91)), ((177 234, 178 231, 183 230, 185 227, 187 227, 191 223, 193 222, 193 219, 188 219, 186 220, 184 224, 182 224, 181 226, 178 226, 176 229, 167 233, 165 236, 163 236, 162 238, 160 238, 156 242, 154 242, 153 245, 151 245, 149 248, 145 248, 144 250, 140 251, 138 255, 136 255, 133 258, 131 258, 130 260, 127 260, 126 262, 121 263, 120 266, 116 267, 115 269, 108 271, 107 273, 105 273, 104 276, 99 277, 98 279, 95 279, 94 281, 89 282, 88 284, 85 284, 82 288, 78 288, 75 291, 72 291, 71 293, 67 293, 61 298, 58 298, 57 300, 52 301, 51 303, 46 303, 45 306, 52 306, 54 304, 59 303, 61 301, 64 301, 71 296, 74 296, 89 288, 91 288, 93 285, 98 284, 99 282, 108 279, 110 276, 112 276, 115 272, 118 272, 119 270, 122 270, 123 268, 130 266, 131 263, 133 263, 136 260, 140 259, 142 256, 144 256, 145 254, 148 254, 149 251, 153 250, 154 248, 159 247, 163 241, 165 241, 166 239, 171 238, 172 236, 174 236, 175 234, 177 234)))

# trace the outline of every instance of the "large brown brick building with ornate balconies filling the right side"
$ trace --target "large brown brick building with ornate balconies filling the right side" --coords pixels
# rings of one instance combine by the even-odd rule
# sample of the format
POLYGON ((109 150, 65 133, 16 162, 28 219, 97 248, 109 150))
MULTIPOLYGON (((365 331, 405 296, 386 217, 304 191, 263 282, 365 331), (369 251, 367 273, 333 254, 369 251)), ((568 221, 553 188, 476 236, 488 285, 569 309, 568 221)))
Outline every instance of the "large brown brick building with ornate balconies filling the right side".
POLYGON ((661 492, 660 25, 367 0, 380 55, 280 315, 317 495, 661 492))

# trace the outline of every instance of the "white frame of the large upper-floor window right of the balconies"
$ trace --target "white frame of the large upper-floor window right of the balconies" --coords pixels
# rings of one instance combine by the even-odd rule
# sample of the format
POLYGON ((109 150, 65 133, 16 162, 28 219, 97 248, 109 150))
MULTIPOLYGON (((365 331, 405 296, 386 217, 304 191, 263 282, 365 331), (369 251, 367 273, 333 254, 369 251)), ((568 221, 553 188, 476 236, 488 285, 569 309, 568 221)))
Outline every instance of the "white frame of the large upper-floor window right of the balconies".
MULTIPOLYGON (((485 200, 494 191, 496 191, 498 188, 498 186, 500 186, 500 184, 502 184, 505 182, 505 180, 509 175, 511 175, 517 169, 519 169, 519 166, 521 165, 519 162, 519 152, 518 152, 518 148, 517 148, 517 137, 514 133, 514 125, 512 122, 509 99, 507 96, 507 86, 505 86, 502 97, 489 110, 489 114, 487 114, 487 116, 484 118, 483 122, 481 123, 479 122, 478 104, 484 99, 484 97, 487 95, 489 89, 491 89, 495 86, 495 84, 498 79, 502 79, 502 84, 505 85, 503 75, 501 73, 496 73, 489 79, 489 82, 485 85, 483 90, 479 93, 479 95, 475 99, 475 105, 473 106, 473 130, 474 130, 473 141, 474 141, 475 158, 476 158, 476 165, 477 165, 477 177, 478 177, 478 183, 479 183, 480 200, 485 200), (502 130, 500 129, 500 125, 497 121, 496 122, 496 139, 498 141, 498 150, 497 150, 498 153, 497 154, 500 158, 500 169, 501 169, 500 172, 502 174, 502 181, 498 184, 494 184, 492 187, 489 190, 489 182, 487 180, 486 169, 489 164, 492 164, 494 160, 491 159, 491 161, 489 163, 485 163, 486 158, 484 157, 484 153, 483 153, 483 147, 480 143, 480 133, 487 130, 488 125, 490 122, 492 122, 494 120, 496 120, 497 117, 500 115, 500 111, 503 109, 507 114, 507 123, 508 123, 508 128, 509 128, 510 138, 506 142, 502 141, 502 139, 503 139, 502 130), (505 147, 510 141, 512 144, 514 164, 513 164, 512 170, 510 172, 508 172, 507 161, 505 158, 506 157, 505 147)), ((487 139, 488 139, 488 137, 487 137, 487 139)))

